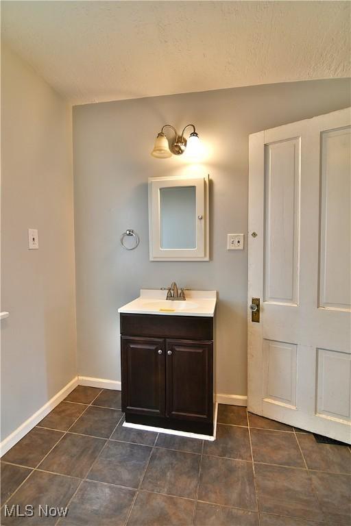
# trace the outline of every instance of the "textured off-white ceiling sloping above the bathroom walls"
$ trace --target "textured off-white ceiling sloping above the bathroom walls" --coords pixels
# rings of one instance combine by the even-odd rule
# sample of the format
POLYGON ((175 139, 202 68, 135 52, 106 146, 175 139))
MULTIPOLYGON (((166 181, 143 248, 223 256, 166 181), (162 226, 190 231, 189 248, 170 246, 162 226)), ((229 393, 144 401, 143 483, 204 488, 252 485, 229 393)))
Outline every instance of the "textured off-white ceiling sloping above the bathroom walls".
POLYGON ((350 77, 348 1, 2 1, 2 34, 75 104, 350 77))

